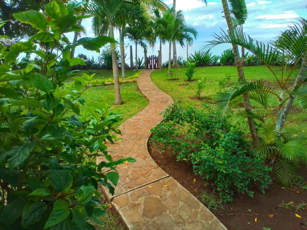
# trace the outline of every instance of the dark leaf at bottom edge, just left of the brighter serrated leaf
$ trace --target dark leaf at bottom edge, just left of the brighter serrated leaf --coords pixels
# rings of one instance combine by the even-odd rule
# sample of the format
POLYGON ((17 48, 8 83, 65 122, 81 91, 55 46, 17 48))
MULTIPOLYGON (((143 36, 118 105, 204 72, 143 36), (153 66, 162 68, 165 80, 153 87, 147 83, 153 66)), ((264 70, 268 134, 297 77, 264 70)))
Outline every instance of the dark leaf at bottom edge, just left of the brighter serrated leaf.
POLYGON ((25 206, 22 211, 21 225, 24 228, 26 228, 28 225, 33 225, 41 218, 41 215, 46 209, 47 205, 42 201, 35 202, 29 207, 25 206))

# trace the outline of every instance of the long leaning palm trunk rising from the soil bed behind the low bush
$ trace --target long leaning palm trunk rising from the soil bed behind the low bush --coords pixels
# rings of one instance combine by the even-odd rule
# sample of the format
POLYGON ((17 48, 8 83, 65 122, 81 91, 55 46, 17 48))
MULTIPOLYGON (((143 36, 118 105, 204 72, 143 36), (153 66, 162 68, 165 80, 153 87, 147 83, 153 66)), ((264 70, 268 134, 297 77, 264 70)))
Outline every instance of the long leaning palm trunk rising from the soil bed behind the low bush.
MULTIPOLYGON (((227 0, 222 0, 222 4, 223 4, 223 10, 224 10, 229 34, 231 35, 232 31, 233 31, 233 26, 232 26, 232 22, 231 22, 231 16, 230 16, 230 13, 229 13, 227 0)), ((243 67, 241 65, 239 48, 235 44, 232 44, 232 48, 233 48, 233 51, 234 51, 234 54, 235 54, 235 63, 236 63, 239 79, 240 79, 241 83, 244 83, 245 77, 244 77, 243 67)), ((250 111, 251 110, 251 103, 249 101, 248 94, 243 94, 243 102, 244 102, 244 108, 247 111, 250 111)), ((256 127, 255 127, 255 121, 252 117, 248 117, 247 122, 248 122, 248 126, 249 126, 249 129, 250 129, 250 132, 251 132, 251 138, 253 140, 253 143, 256 143, 256 142, 258 142, 258 134, 257 134, 257 130, 256 130, 256 127)))

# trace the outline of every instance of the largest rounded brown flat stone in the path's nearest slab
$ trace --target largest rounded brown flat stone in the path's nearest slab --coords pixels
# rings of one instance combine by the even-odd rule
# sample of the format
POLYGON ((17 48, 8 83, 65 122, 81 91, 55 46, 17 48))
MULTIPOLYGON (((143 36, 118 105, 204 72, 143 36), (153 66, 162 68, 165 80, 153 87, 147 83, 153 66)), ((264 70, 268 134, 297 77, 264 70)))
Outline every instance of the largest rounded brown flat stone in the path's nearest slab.
POLYGON ((161 201, 155 197, 145 197, 143 215, 148 218, 161 215, 166 210, 161 201))

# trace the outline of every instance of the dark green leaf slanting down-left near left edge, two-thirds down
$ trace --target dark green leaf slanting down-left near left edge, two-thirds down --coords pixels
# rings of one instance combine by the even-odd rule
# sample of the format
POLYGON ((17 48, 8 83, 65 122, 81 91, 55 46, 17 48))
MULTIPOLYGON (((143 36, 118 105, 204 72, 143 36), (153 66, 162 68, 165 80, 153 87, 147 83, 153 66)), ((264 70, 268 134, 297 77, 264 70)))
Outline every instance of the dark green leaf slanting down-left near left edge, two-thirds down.
POLYGON ((17 167, 25 162, 25 160, 29 157, 31 151, 35 147, 35 142, 27 143, 21 145, 16 152, 11 156, 8 160, 10 168, 17 167))

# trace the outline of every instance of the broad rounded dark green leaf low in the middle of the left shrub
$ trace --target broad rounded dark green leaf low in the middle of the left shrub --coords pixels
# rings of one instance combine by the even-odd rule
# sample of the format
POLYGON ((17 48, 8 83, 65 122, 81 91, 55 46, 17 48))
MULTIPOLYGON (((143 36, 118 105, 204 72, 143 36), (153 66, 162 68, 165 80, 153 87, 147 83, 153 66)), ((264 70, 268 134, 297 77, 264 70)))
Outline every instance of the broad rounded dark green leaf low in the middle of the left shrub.
POLYGON ((56 192, 65 193, 72 186, 72 176, 67 170, 51 170, 49 180, 56 192))

